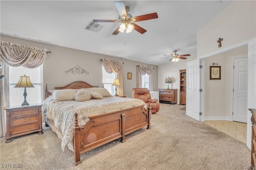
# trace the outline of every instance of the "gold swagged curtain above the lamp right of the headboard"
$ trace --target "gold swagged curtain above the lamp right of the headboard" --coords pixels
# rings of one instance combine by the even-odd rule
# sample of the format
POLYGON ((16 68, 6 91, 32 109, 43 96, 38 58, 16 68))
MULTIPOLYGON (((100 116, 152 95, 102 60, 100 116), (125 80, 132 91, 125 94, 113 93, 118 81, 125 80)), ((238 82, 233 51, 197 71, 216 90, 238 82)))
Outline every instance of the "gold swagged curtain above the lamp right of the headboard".
POLYGON ((103 66, 108 73, 115 73, 116 78, 118 78, 120 82, 120 86, 117 86, 116 93, 119 96, 123 95, 123 76, 122 76, 122 62, 116 61, 112 59, 103 59, 103 66))

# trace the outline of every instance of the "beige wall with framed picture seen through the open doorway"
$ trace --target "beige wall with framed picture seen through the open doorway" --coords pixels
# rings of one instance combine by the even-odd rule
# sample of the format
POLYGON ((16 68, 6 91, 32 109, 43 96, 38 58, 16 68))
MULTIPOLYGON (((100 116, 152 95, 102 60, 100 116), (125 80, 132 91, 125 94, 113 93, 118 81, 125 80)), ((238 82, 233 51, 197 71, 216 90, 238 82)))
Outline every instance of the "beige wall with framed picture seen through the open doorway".
POLYGON ((240 47, 205 59, 205 109, 206 120, 230 120, 232 57, 248 55, 248 46, 240 47), (221 66, 221 80, 210 80, 210 66, 221 66))

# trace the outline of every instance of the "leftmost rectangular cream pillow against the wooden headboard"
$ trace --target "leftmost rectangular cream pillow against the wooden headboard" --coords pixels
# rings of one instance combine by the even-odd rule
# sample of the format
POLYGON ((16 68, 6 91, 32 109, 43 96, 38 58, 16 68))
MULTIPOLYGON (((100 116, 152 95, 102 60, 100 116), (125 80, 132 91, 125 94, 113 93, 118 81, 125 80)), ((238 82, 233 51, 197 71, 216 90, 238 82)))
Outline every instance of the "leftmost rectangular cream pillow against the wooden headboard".
POLYGON ((75 100, 76 89, 50 90, 54 100, 75 100))

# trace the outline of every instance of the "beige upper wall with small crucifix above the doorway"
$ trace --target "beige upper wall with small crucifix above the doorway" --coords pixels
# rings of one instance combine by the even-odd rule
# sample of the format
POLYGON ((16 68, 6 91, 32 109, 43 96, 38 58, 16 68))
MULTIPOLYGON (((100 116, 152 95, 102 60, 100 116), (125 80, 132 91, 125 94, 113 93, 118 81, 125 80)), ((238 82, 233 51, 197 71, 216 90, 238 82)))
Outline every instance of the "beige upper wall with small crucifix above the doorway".
POLYGON ((256 37, 256 1, 233 1, 216 18, 197 33, 197 56, 201 58, 220 50, 256 37))

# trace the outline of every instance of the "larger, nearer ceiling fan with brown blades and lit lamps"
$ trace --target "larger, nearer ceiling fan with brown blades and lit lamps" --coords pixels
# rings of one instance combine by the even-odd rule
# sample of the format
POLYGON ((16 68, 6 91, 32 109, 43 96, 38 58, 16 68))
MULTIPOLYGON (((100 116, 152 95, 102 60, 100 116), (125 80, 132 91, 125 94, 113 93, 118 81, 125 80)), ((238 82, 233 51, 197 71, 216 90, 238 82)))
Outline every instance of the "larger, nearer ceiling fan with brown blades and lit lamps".
POLYGON ((112 33, 112 35, 117 35, 119 32, 131 32, 132 29, 135 29, 139 33, 143 34, 147 30, 140 27, 134 22, 138 21, 144 21, 144 20, 152 20, 155 18, 158 18, 157 13, 151 13, 151 14, 145 14, 142 16, 136 16, 132 17, 131 14, 129 14, 130 8, 128 6, 124 6, 124 2, 114 2, 116 9, 119 13, 119 19, 118 20, 92 20, 93 22, 119 22, 121 23, 120 26, 116 28, 116 30, 112 33))

